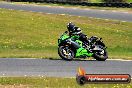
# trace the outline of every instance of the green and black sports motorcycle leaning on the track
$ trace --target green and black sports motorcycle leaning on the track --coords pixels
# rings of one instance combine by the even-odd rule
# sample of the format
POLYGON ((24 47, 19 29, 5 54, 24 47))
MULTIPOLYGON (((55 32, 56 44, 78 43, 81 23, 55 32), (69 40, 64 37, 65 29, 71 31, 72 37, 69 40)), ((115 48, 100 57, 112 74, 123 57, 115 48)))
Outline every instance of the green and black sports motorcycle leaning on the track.
POLYGON ((94 57, 98 61, 105 61, 108 58, 102 38, 92 36, 88 43, 83 43, 79 36, 70 37, 67 33, 64 32, 58 39, 58 54, 62 59, 71 61, 74 58, 94 57))

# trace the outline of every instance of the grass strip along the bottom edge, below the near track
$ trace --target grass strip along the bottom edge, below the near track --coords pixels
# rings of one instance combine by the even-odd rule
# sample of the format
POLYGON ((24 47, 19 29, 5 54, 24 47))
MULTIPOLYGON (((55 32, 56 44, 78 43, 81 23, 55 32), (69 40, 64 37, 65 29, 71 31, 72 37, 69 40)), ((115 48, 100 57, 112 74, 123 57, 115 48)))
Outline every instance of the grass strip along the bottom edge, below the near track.
MULTIPOLYGON (((130 84, 86 84, 80 86, 75 78, 53 78, 53 77, 1 77, 0 84, 27 85, 28 88, 131 88, 130 84)), ((15 87, 11 87, 15 88, 15 87)), ((26 87, 27 88, 27 87, 26 87)))

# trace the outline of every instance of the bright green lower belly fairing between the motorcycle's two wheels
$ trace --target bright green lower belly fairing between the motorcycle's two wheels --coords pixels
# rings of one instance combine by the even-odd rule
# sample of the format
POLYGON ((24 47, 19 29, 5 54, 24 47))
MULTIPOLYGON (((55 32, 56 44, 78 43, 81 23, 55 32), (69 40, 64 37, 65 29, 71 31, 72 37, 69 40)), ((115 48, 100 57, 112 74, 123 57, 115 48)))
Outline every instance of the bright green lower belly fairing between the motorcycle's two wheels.
POLYGON ((84 56, 84 55, 86 55, 86 56, 88 56, 88 57, 91 57, 91 56, 93 55, 93 53, 88 52, 88 51, 87 51, 86 49, 84 49, 84 48, 79 48, 79 49, 77 50, 76 57, 80 57, 80 56, 84 56))

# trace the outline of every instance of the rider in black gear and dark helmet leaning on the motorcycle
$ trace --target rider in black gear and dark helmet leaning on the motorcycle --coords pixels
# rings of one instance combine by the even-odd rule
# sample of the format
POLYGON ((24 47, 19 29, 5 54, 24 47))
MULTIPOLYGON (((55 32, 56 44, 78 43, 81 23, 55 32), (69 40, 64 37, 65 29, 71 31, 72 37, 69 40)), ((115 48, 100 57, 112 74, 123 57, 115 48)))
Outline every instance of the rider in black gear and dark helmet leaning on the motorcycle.
POLYGON ((79 40, 82 41, 84 44, 89 43, 87 35, 83 34, 82 30, 79 27, 76 27, 75 24, 73 24, 72 22, 69 22, 67 24, 67 29, 70 37, 77 35, 79 36, 79 40))

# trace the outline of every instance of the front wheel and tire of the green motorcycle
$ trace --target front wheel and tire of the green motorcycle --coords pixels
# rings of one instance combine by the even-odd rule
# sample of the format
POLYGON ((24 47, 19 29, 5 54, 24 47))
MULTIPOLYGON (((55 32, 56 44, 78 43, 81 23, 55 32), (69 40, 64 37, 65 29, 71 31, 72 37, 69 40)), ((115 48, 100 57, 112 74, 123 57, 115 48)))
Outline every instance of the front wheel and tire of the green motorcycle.
POLYGON ((74 51, 69 46, 59 46, 58 54, 63 60, 71 61, 74 58, 74 51))

